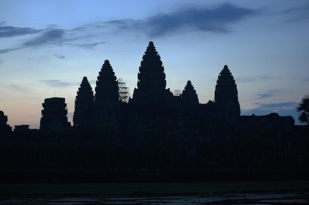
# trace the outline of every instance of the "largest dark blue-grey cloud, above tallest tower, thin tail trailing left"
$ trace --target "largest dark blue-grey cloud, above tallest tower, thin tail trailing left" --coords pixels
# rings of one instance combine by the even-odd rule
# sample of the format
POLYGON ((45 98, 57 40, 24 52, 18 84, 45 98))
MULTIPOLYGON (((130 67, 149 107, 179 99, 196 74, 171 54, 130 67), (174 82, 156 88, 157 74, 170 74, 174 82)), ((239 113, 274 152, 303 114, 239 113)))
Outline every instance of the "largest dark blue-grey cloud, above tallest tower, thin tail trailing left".
MULTIPOLYGON (((259 10, 242 8, 230 3, 220 4, 215 8, 188 8, 159 13, 146 20, 122 19, 108 22, 96 22, 85 26, 103 29, 105 32, 118 33, 124 31, 144 33, 152 36, 188 33, 191 31, 228 33, 232 23, 240 21, 259 10)), ((77 28, 83 30, 85 28, 77 28)))

